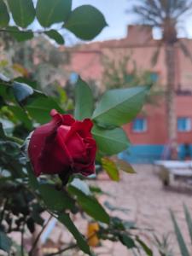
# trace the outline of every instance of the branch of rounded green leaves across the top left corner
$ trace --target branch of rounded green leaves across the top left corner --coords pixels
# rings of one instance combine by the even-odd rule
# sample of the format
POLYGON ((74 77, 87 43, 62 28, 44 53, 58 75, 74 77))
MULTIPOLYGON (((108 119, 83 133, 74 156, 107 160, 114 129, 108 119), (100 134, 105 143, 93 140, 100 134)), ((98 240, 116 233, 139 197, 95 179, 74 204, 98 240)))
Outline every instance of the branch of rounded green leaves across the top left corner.
POLYGON ((33 32, 27 30, 35 18, 44 30, 36 33, 46 34, 54 39, 57 44, 64 44, 65 40, 60 32, 50 29, 58 24, 73 32, 77 37, 90 40, 95 38, 107 26, 102 13, 91 5, 79 6, 72 10, 72 0, 38 0, 36 9, 32 0, 8 0, 9 11, 3 0, 0 1, 0 26, 3 32, 9 32, 19 42, 31 39, 33 32), (13 16, 16 26, 9 25, 9 15, 13 16), (47 30, 49 29, 49 30, 47 30))

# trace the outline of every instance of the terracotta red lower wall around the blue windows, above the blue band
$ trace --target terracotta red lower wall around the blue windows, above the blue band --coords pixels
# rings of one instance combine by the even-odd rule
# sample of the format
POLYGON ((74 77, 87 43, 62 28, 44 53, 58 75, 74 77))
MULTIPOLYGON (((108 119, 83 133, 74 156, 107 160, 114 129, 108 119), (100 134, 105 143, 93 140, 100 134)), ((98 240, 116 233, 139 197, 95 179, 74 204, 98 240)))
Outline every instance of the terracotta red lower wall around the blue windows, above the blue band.
MULTIPOLYGON (((189 117, 192 122, 192 96, 177 96, 177 117, 189 117)), ((142 133, 132 131, 132 124, 124 125, 128 137, 133 144, 166 144, 168 143, 166 131, 166 108, 164 102, 159 107, 147 106, 145 108, 148 120, 148 130, 142 133)), ((192 131, 177 132, 178 143, 192 144, 192 131)))

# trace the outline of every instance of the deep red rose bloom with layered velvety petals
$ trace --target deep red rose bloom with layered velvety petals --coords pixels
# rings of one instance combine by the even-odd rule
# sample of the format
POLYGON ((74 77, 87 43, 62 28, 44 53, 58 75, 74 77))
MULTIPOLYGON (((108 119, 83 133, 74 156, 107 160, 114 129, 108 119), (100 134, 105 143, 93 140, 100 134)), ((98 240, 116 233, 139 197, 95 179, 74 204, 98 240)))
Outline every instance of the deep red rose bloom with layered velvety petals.
POLYGON ((29 143, 28 154, 35 175, 72 173, 88 176, 95 172, 96 142, 90 119, 77 121, 69 114, 50 112, 52 120, 39 126, 29 143))

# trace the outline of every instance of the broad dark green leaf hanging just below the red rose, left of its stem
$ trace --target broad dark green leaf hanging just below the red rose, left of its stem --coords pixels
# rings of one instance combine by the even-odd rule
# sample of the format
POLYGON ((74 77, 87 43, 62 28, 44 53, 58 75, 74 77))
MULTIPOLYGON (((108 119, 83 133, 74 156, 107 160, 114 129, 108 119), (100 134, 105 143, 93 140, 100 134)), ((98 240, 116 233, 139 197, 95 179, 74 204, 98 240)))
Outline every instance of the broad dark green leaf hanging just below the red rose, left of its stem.
POLYGON ((40 194, 49 209, 52 211, 72 210, 74 208, 73 199, 66 191, 56 190, 53 185, 42 184, 39 186, 40 194))

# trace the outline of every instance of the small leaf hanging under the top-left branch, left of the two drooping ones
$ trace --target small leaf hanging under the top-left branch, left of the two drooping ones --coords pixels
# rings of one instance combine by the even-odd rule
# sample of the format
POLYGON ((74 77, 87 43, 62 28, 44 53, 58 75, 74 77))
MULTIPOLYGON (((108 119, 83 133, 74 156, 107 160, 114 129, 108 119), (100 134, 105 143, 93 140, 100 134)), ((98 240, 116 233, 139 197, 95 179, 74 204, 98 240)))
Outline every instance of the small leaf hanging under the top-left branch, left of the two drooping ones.
POLYGON ((16 26, 9 26, 7 31, 15 38, 18 42, 26 41, 33 38, 32 30, 20 31, 16 26))

